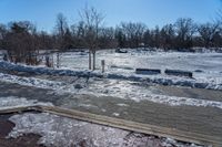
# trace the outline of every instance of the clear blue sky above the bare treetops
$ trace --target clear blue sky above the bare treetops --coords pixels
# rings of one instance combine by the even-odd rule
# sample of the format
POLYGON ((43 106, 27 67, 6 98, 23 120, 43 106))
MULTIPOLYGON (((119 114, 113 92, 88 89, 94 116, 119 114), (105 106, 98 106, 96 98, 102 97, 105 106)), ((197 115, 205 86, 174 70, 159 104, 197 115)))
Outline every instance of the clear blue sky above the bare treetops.
POLYGON ((30 20, 39 30, 51 31, 57 13, 62 12, 69 23, 74 23, 85 4, 104 13, 108 27, 132 21, 150 28, 181 17, 200 23, 212 21, 222 8, 220 0, 0 0, 0 23, 30 20))

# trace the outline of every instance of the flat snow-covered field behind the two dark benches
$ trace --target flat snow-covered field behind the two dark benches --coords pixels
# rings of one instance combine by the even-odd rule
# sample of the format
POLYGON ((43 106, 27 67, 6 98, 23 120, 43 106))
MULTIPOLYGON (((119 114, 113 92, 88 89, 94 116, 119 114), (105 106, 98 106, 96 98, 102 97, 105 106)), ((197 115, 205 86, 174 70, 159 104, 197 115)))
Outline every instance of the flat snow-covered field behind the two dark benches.
MULTIPOLYGON (((97 69, 101 70, 101 61, 105 61, 105 73, 142 76, 151 80, 193 81, 164 74, 164 70, 183 70, 193 72, 196 83, 222 85, 222 54, 221 53, 183 53, 128 50, 128 53, 115 53, 113 50, 97 52, 97 69), (135 69, 159 69, 158 75, 138 75, 135 69)), ((56 54, 53 55, 56 59, 56 54)), ((71 70, 88 69, 87 52, 65 52, 60 55, 60 67, 71 70)), ((157 83, 157 82, 154 82, 157 83)), ((165 83, 165 82, 162 82, 165 83)), ((180 85, 180 84, 179 84, 180 85)), ((200 85, 202 87, 203 85, 200 85)), ((211 86, 211 85, 210 85, 211 86)), ((214 87, 212 87, 214 88, 214 87)))

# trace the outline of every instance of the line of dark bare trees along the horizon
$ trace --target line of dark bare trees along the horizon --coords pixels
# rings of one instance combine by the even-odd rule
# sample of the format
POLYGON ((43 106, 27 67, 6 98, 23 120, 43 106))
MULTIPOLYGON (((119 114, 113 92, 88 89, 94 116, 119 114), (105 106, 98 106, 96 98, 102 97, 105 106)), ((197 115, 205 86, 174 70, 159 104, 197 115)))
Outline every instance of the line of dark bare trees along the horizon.
POLYGON ((173 24, 154 29, 140 22, 121 22, 115 28, 104 27, 103 22, 102 13, 85 7, 80 11, 80 21, 71 25, 68 24, 67 18, 59 13, 51 33, 38 31, 30 21, 0 24, 0 49, 8 50, 11 61, 14 62, 31 60, 31 55, 39 50, 89 49, 89 69, 94 70, 95 51, 100 49, 222 48, 222 18, 201 24, 190 18, 180 18, 173 24))

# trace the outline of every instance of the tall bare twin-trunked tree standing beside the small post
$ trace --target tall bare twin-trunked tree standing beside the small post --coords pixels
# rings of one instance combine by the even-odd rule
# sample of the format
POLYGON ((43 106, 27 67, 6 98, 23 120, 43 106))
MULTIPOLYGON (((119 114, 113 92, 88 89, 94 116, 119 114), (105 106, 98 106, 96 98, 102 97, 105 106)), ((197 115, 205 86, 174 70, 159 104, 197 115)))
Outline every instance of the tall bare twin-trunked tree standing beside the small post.
POLYGON ((89 70, 91 70, 91 54, 93 55, 93 66, 95 70, 95 51, 98 48, 99 30, 102 27, 104 17, 98 12, 94 8, 85 7, 81 12, 80 17, 84 23, 84 41, 87 48, 89 48, 89 70))

